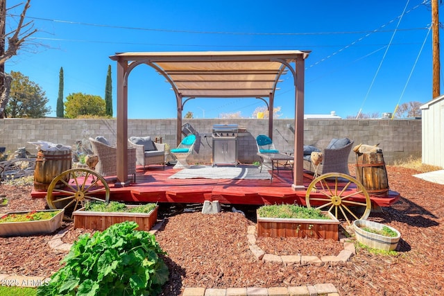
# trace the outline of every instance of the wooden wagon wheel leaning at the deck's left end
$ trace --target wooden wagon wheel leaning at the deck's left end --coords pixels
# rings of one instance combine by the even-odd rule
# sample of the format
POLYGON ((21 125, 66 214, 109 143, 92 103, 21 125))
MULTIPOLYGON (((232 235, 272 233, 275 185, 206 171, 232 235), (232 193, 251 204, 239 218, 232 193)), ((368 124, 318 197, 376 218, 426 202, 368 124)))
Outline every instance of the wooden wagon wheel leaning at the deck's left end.
POLYGON ((51 181, 46 193, 49 208, 65 209, 65 212, 80 209, 88 200, 108 202, 110 187, 99 173, 87 168, 64 171, 51 181))

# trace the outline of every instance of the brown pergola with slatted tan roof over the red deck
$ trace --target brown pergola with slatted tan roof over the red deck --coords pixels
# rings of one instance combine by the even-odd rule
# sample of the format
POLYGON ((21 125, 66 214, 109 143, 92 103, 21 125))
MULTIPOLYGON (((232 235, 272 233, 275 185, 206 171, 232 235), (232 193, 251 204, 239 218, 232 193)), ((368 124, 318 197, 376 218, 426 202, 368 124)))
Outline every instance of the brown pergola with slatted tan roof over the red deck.
POLYGON ((303 186, 305 59, 310 51, 203 51, 116 53, 117 183, 128 186, 128 76, 147 64, 164 76, 176 94, 177 144, 182 110, 192 98, 259 98, 268 107, 268 136, 273 138, 273 105, 280 77, 291 71, 295 86, 295 169, 293 189, 303 186), (293 66, 294 65, 294 66, 293 66))

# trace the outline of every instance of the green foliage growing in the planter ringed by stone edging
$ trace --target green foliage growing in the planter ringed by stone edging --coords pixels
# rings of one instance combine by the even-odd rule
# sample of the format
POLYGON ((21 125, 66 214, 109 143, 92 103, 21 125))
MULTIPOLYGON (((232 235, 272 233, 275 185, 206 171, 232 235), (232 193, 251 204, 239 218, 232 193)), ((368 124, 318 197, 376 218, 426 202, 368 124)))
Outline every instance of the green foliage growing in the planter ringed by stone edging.
POLYGON ((264 218, 330 219, 319 209, 301 207, 298 204, 266 205, 259 207, 257 213, 264 218))

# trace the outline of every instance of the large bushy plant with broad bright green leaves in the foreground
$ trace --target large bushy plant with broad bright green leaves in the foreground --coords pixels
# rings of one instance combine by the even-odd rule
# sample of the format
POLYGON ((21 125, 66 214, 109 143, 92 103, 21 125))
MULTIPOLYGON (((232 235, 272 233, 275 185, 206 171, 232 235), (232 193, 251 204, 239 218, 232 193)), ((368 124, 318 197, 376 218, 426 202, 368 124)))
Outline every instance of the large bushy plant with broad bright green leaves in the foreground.
POLYGON ((37 289, 49 295, 157 295, 168 281, 166 254, 148 232, 126 221, 83 234, 74 242, 65 265, 51 276, 48 286, 37 289))

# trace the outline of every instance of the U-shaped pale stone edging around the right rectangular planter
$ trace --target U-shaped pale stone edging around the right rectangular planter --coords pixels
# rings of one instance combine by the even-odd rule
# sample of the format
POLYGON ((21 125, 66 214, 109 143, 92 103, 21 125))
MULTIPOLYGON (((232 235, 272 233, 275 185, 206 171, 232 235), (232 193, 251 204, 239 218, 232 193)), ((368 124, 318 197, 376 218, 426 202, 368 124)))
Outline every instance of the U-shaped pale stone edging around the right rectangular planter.
POLYGON ((250 225, 247 229, 247 238, 248 238, 248 245, 250 247, 250 251, 253 253, 253 256, 257 260, 264 260, 265 262, 269 263, 278 263, 279 265, 293 265, 293 264, 300 264, 300 265, 307 265, 307 264, 314 264, 314 265, 322 265, 323 263, 334 263, 334 262, 342 262, 345 263, 350 259, 352 256, 356 254, 355 244, 349 243, 347 241, 347 238, 341 238, 339 241, 341 241, 344 244, 344 250, 339 252, 337 256, 321 256, 319 258, 318 256, 304 256, 304 255, 288 255, 288 256, 279 256, 274 254, 266 254, 264 250, 262 250, 258 245, 256 245, 256 226, 250 225))

